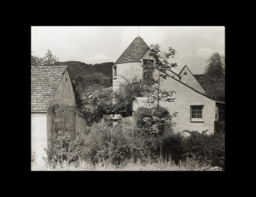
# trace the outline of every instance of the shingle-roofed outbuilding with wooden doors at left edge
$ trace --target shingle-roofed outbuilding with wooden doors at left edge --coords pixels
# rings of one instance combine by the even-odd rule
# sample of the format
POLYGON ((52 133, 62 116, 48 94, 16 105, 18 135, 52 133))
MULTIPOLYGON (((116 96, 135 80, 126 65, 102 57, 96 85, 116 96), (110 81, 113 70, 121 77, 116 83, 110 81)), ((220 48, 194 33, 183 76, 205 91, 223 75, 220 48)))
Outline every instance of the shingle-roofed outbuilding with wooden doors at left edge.
POLYGON ((31 69, 32 156, 37 163, 46 157, 48 139, 58 130, 71 138, 86 126, 76 109, 76 99, 67 66, 32 66, 31 69))

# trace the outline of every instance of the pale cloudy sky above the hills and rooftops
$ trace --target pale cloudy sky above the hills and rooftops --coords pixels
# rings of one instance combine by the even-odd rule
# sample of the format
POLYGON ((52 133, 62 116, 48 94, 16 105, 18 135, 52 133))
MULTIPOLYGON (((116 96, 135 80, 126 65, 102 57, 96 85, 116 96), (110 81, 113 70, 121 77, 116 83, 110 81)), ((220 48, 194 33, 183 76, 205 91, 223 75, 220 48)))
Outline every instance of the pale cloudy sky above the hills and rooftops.
MULTIPOLYGON (((115 62, 137 34, 137 26, 32 26, 32 54, 43 57, 49 49, 60 61, 115 62)), ((224 54, 224 26, 140 26, 139 35, 148 46, 177 51, 169 61, 177 74, 184 65, 202 74, 212 53, 224 54)))

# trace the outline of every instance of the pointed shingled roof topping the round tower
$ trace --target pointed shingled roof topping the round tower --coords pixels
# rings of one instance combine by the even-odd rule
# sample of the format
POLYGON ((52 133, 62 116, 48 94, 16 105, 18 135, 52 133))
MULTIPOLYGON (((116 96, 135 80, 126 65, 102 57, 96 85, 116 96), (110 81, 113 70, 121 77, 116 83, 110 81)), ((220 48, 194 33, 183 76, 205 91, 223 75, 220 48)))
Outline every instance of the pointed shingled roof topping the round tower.
POLYGON ((136 37, 128 48, 125 49, 115 64, 121 64, 126 62, 138 62, 141 61, 141 57, 148 50, 148 44, 143 41, 142 37, 136 37))

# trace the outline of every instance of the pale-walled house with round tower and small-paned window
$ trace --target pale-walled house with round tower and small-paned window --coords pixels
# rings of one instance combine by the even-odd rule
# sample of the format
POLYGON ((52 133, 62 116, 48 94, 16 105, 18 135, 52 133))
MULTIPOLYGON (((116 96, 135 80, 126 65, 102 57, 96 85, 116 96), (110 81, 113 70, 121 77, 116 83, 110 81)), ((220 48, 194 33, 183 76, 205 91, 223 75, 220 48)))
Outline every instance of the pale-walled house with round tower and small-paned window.
MULTIPOLYGON (((119 82, 124 82, 122 76, 130 79, 137 76, 137 80, 147 85, 147 78, 143 74, 143 63, 152 61, 153 64, 162 64, 159 59, 149 56, 149 52, 150 48, 142 37, 138 36, 131 42, 113 65, 113 92, 118 90, 119 82)), ((160 102, 160 105, 166 107, 170 114, 173 112, 178 114, 172 120, 177 123, 176 127, 166 128, 165 135, 183 130, 198 132, 208 130, 207 133, 213 133, 216 130, 215 122, 218 121, 218 107, 223 106, 224 102, 208 97, 187 65, 179 74, 173 71, 168 74, 172 77, 160 82, 160 89, 175 91, 173 98, 176 100, 173 103, 160 102)), ((132 110, 136 112, 138 107, 147 106, 143 103, 146 99, 133 100, 132 110)))

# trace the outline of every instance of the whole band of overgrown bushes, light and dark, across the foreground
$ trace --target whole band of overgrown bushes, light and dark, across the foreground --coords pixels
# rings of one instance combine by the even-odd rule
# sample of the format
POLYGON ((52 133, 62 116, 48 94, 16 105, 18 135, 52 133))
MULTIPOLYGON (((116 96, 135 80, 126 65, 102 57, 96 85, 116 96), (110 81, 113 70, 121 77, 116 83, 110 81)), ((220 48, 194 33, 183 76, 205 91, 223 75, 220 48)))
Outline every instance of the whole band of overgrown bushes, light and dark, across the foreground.
POLYGON ((181 162, 194 160, 197 166, 219 166, 225 169, 224 133, 189 134, 189 137, 183 133, 162 137, 145 135, 136 130, 123 130, 120 125, 106 127, 94 124, 74 140, 70 139, 68 133, 55 133, 49 140, 46 161, 48 166, 55 168, 65 162, 79 165, 81 161, 91 165, 108 163, 124 166, 131 162, 147 165, 149 161, 157 163, 160 160, 180 165, 181 162))

